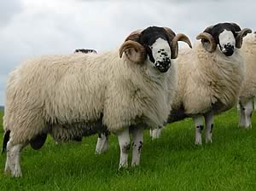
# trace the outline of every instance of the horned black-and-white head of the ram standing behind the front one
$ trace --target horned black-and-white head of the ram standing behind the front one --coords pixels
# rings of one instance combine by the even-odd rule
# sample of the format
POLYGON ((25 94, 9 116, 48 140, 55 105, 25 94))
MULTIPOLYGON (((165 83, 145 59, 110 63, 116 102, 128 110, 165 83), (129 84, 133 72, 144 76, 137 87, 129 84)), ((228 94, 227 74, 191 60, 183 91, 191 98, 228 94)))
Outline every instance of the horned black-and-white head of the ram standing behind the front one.
POLYGON ((236 23, 218 23, 209 26, 201 32, 196 39, 201 39, 203 47, 208 52, 214 52, 217 47, 226 56, 234 54, 234 51, 241 48, 242 38, 252 30, 244 28, 241 30, 236 23))

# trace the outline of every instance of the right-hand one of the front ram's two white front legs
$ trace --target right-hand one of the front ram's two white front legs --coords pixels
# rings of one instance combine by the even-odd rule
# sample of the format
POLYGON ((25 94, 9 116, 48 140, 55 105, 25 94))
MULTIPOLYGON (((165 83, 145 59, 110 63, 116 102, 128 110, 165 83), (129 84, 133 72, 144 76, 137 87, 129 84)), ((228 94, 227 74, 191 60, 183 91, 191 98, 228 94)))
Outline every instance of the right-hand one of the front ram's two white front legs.
POLYGON ((143 127, 136 127, 132 131, 132 160, 131 166, 140 164, 141 151, 143 148, 143 127))

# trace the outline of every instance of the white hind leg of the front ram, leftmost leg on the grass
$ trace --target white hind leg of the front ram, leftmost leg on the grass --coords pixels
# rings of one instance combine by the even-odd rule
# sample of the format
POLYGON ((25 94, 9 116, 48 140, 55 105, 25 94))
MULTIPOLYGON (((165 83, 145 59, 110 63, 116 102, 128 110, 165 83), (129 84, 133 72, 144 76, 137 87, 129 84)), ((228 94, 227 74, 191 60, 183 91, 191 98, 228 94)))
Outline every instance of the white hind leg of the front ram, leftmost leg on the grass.
POLYGON ((11 171, 12 177, 21 177, 20 169, 20 151, 27 143, 13 145, 11 141, 7 143, 7 158, 4 171, 11 171))

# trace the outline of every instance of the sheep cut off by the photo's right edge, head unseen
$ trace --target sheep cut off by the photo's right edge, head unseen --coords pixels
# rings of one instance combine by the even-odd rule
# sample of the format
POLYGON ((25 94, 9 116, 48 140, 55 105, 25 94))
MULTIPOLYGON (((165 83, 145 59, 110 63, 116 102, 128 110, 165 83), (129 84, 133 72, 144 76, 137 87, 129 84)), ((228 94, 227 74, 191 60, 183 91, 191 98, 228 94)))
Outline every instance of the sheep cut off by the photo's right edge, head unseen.
MULTIPOLYGON (((244 84, 241 87, 239 96, 239 126, 244 128, 252 127, 253 98, 255 104, 256 96, 256 33, 248 35, 241 48, 246 58, 246 75, 244 84)), ((254 105, 255 109, 255 105, 254 105)))

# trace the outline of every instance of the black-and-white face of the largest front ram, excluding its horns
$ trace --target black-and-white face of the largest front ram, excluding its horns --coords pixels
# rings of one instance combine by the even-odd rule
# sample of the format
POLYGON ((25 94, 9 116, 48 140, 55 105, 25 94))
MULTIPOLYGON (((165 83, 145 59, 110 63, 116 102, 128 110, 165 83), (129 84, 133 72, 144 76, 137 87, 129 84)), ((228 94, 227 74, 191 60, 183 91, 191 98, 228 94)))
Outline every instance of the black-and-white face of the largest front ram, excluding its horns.
POLYGON ((160 72, 167 72, 171 67, 172 53, 170 44, 168 43, 169 41, 170 39, 166 30, 157 26, 151 26, 145 29, 138 41, 145 47, 149 61, 160 72))

